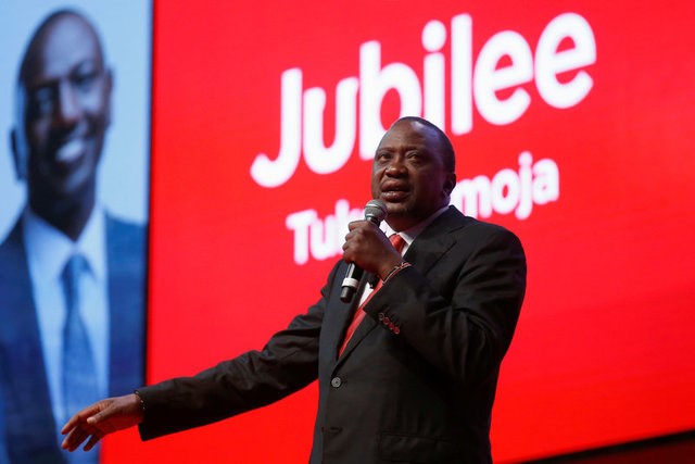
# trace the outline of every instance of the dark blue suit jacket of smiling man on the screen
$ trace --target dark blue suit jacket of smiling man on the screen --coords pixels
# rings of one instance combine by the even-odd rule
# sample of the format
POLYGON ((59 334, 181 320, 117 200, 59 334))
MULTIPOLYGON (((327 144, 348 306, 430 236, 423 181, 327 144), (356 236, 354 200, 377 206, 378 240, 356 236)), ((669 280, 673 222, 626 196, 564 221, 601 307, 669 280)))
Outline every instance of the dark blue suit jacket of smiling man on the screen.
MULTIPOLYGON (((109 392, 143 383, 146 230, 106 216, 109 392)), ((51 409, 22 223, 0 246, 0 437, 12 463, 63 462, 51 409)))

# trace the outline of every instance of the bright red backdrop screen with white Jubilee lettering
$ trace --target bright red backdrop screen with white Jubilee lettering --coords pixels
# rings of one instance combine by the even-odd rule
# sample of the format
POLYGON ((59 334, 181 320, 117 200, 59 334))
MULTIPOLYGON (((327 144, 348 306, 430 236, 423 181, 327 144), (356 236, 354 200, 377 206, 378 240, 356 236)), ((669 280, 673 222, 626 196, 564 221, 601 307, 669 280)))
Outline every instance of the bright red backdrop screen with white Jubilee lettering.
MULTIPOLYGON (((148 381, 317 300, 415 114, 454 142, 452 202, 528 253, 495 461, 695 428, 693 24, 692 2, 155 2, 148 381)), ((306 462, 316 400, 126 432, 104 462, 306 462)))

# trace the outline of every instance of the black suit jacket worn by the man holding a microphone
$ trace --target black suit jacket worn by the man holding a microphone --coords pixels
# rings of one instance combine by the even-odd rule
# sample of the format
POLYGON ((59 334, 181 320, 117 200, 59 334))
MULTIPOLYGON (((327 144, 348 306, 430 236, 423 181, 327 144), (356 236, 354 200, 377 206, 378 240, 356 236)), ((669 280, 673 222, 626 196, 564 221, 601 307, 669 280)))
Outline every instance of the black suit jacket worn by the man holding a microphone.
POLYGON ((339 262, 306 314, 195 377, 140 391, 143 439, 257 407, 318 378, 311 463, 491 462, 500 364, 526 289, 508 230, 450 209, 412 243, 412 267, 389 279, 339 358, 354 306, 340 301, 339 262))

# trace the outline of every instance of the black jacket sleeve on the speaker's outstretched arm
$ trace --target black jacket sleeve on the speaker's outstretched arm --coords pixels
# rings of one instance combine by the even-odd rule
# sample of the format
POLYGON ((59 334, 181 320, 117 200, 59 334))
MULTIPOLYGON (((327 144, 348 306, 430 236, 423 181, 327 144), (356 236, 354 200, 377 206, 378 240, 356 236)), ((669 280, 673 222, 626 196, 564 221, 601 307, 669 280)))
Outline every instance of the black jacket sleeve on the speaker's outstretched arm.
POLYGON ((193 377, 138 390, 144 403, 143 440, 217 422, 282 399, 317 378, 318 341, 326 308, 321 299, 261 351, 249 351, 193 377))

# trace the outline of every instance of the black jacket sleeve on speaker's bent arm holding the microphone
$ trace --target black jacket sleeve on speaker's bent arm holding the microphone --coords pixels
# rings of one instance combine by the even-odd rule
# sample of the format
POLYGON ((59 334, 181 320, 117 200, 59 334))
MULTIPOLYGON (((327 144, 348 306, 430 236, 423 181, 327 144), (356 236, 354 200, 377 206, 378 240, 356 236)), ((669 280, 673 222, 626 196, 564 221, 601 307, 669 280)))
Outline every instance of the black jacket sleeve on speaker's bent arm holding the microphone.
POLYGON ((414 265, 389 279, 365 311, 388 317, 428 363, 475 388, 496 381, 525 296, 526 258, 510 231, 465 220, 444 236, 424 231, 405 255, 414 265))

